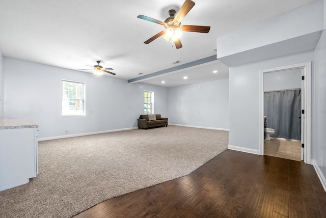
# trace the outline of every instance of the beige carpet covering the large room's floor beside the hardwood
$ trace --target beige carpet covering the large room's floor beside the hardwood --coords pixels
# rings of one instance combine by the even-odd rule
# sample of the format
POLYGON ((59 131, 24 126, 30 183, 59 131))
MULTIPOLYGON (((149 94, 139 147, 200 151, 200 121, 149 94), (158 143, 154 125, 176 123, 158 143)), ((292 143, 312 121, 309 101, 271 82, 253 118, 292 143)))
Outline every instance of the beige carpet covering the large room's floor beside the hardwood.
POLYGON ((187 175, 227 146, 227 131, 171 125, 39 142, 38 176, 0 192, 0 217, 71 217, 187 175))

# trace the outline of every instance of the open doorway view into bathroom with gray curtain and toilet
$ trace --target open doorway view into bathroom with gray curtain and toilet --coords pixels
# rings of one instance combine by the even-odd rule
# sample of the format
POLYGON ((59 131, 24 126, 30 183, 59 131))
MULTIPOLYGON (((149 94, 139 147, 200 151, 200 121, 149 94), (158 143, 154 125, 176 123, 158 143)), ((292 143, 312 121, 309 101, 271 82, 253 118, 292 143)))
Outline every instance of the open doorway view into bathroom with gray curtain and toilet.
POLYGON ((263 73, 264 155, 301 161, 302 69, 263 73))

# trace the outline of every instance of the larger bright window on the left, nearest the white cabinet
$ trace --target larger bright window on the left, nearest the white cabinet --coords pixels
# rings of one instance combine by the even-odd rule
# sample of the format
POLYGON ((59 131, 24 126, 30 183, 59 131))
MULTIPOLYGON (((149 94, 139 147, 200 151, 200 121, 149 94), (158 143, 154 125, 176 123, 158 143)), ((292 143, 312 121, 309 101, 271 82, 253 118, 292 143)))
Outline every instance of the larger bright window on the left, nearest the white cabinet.
POLYGON ((85 83, 62 80, 61 115, 85 116, 85 83))

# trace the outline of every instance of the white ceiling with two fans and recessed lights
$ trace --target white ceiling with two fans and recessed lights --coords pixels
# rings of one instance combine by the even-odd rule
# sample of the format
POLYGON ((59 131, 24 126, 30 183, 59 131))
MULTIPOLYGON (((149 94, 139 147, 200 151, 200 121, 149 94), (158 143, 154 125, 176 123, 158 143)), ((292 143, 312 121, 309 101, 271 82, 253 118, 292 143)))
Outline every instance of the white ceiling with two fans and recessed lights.
MULTIPOLYGON (((137 16, 164 21, 184 0, 0 0, 0 49, 7 58, 73 70, 101 60, 116 73, 105 76, 129 80, 214 56, 216 38, 315 0, 194 1, 182 24, 209 25, 210 32, 184 32, 176 49, 162 37, 144 44, 164 27, 137 16)), ((228 68, 212 61, 139 81, 173 87, 227 77, 228 68)))

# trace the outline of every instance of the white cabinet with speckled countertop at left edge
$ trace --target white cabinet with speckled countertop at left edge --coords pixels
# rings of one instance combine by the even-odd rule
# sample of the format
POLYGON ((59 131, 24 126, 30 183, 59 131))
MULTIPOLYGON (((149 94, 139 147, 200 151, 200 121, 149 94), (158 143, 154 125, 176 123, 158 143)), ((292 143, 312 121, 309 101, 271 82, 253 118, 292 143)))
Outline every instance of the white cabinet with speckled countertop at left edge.
POLYGON ((0 121, 0 191, 38 174, 37 127, 32 119, 0 121))

